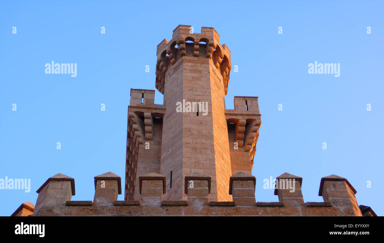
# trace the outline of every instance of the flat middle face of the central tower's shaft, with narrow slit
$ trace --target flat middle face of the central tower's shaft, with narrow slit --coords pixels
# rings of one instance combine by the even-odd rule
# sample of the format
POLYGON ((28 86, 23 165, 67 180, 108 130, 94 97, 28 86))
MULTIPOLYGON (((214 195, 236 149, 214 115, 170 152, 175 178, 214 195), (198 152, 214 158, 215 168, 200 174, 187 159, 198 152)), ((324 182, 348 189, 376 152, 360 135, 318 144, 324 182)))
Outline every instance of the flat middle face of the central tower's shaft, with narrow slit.
MULTIPOLYGON (((214 134, 211 108, 209 59, 184 56, 183 97, 185 102, 207 102, 208 113, 183 113, 183 178, 190 173, 203 173, 216 181, 214 134)), ((210 198, 217 200, 216 185, 210 198)), ((183 187, 184 188, 184 184, 183 187)))

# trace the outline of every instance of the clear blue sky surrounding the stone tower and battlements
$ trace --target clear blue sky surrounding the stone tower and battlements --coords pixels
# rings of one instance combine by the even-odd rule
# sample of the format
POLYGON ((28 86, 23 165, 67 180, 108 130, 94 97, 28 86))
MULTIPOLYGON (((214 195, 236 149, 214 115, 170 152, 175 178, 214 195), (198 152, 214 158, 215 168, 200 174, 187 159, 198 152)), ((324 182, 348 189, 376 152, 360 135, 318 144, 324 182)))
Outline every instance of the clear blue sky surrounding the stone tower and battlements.
POLYGON ((93 200, 93 177, 108 171, 124 185, 130 89, 155 90, 156 47, 179 24, 214 27, 231 50, 238 73, 227 108, 233 96, 259 97, 257 201, 278 201, 263 179, 284 172, 303 177, 304 201, 323 201, 320 179, 336 174, 384 215, 383 9, 382 1, 1 1, 0 178, 30 178, 31 192, 0 190, 0 215, 35 204, 56 173, 75 179, 72 200, 93 200), (77 63, 77 77, 45 74, 51 61, 77 63), (340 63, 340 77, 308 74, 314 61, 340 63))

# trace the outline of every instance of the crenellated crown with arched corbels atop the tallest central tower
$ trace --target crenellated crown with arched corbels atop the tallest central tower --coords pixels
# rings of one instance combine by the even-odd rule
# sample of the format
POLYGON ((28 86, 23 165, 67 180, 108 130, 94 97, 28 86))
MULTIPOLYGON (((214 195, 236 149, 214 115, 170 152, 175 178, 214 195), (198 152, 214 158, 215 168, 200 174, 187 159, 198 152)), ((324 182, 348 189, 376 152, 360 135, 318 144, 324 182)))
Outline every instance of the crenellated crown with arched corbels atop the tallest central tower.
POLYGON ((202 27, 201 33, 192 33, 192 26, 179 25, 172 35, 172 40, 164 39, 157 45, 156 83, 160 93, 164 94, 166 72, 180 58, 205 57, 213 61, 223 77, 225 95, 228 93, 229 72, 231 70, 231 52, 220 45, 219 35, 214 28, 202 27))

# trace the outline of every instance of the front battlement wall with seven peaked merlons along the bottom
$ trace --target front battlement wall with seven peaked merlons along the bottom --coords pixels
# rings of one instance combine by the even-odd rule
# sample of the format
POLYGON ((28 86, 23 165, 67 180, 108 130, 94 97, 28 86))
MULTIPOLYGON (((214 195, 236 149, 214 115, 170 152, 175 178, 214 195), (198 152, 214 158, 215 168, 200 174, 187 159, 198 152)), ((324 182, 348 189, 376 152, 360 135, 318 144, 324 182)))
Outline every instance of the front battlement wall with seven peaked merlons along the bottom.
MULTIPOLYGON (((166 176, 151 172, 139 176, 138 200, 119 201, 121 178, 108 172, 94 177, 93 201, 72 201, 74 179, 59 173, 37 191, 32 216, 362 216, 362 211, 369 208, 360 210, 356 190, 348 180, 335 175, 321 178, 319 195, 323 202, 304 202, 303 178, 289 173, 276 178, 276 202, 257 201, 256 178, 246 173, 229 178, 227 188, 232 201, 210 200, 210 176, 192 173, 184 180, 187 200, 164 200, 166 176)), ((367 216, 376 215, 369 210, 367 216)))

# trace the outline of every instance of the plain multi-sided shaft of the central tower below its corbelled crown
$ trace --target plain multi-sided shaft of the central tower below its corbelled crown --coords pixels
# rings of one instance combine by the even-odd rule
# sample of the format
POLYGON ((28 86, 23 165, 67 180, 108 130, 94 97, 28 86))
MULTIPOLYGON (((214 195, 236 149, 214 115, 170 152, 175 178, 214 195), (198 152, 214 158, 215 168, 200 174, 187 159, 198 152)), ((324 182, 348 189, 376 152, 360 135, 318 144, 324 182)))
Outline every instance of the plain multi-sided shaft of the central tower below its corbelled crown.
POLYGON ((162 175, 168 175, 167 178, 172 171, 172 188, 168 179, 164 196, 167 200, 185 199, 180 188, 184 186, 182 178, 190 173, 204 173, 212 177, 211 200, 230 199, 228 185, 232 171, 227 146, 224 94, 222 76, 209 58, 184 56, 167 70, 164 87, 167 109, 162 135, 164 154, 160 171, 162 175), (207 102, 207 115, 202 111, 199 115, 196 112, 176 112, 176 103, 183 100, 207 102))

